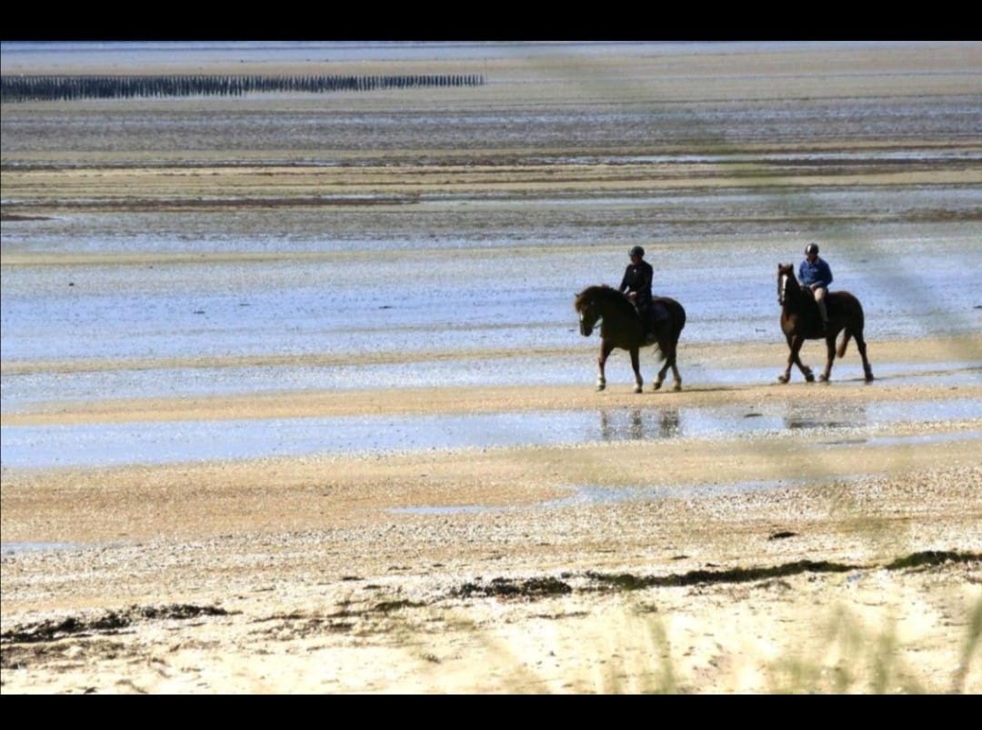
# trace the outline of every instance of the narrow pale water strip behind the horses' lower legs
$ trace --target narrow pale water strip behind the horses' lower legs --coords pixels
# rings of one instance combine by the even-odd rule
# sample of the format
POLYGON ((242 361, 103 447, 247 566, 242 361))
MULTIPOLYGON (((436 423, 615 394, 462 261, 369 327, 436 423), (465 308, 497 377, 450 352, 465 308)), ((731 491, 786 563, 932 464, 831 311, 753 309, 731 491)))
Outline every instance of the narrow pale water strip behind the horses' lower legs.
MULTIPOLYGON (((682 358, 684 354, 682 353, 682 358)), ((809 361, 816 372, 821 361, 809 361)), ((650 353, 642 356, 644 389, 650 391, 657 372, 650 353)), ((711 361, 682 362, 684 388, 727 386, 740 388, 774 384, 783 362, 767 368, 723 368, 711 361)), ((940 363, 874 363, 877 382, 891 386, 943 383, 950 388, 982 385, 982 364, 970 361, 940 363)), ((592 390, 596 375, 593 349, 569 355, 520 357, 498 354, 461 356, 418 362, 378 364, 277 365, 250 367, 120 368, 78 372, 9 373, 0 381, 0 402, 5 413, 17 413, 39 403, 114 399, 250 395, 289 391, 384 391, 400 388, 481 388, 489 386, 579 385, 592 390)), ((792 385, 802 379, 791 374, 792 385)), ((834 387, 865 387, 858 354, 837 361, 834 387)), ((672 375, 668 375, 671 388, 672 375)), ((633 387, 627 354, 615 352, 607 365, 607 386, 612 392, 633 387)), ((869 387, 875 388, 875 383, 869 387)), ((646 406, 647 407, 647 406, 646 406)))

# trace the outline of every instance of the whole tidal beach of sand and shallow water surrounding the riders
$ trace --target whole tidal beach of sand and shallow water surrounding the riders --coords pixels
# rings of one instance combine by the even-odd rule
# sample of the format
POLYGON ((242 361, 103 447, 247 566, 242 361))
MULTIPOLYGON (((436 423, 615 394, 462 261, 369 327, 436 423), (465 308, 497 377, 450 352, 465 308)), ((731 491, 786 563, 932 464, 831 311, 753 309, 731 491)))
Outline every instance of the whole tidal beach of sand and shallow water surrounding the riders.
MULTIPOLYGON (((493 81, 432 114, 395 91, 5 103, 0 692, 982 692, 982 50, 938 46, 401 61, 493 81), (649 139, 652 98, 706 134, 732 117, 755 162, 700 156, 686 119, 649 139), (795 104, 813 136, 735 121, 795 104), (471 112, 518 133, 459 134, 471 112), (870 384, 854 345, 829 384, 777 383, 773 269, 805 235, 868 306, 870 384), (685 296, 682 391, 645 353, 632 393, 624 352, 595 391, 575 331, 575 287, 638 241, 685 296), (759 287, 691 284, 731 248, 759 287)), ((5 48, 4 73, 59 59, 5 48)))

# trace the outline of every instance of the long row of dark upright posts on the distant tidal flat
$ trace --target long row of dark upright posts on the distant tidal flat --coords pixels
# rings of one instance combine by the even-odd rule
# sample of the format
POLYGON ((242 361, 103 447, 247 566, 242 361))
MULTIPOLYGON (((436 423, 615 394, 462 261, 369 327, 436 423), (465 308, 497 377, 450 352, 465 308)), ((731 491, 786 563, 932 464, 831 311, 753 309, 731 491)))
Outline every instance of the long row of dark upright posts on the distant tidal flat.
POLYGON ((0 100, 68 101, 168 96, 242 96, 249 93, 330 93, 387 88, 482 86, 479 74, 400 76, 5 76, 0 100))

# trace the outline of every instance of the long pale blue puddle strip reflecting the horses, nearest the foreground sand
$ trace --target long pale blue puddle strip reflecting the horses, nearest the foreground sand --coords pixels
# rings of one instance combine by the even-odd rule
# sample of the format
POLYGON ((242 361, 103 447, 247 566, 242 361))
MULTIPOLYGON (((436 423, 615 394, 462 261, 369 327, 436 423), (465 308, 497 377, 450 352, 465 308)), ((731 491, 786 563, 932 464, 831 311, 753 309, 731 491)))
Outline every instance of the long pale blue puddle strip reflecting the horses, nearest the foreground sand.
MULTIPOLYGON (((629 408, 478 415, 351 416, 0 428, 4 468, 111 466, 314 454, 368 454, 841 432, 982 419, 977 398, 903 403, 629 408)), ((861 436, 861 434, 860 434, 861 436)), ((931 435, 924 439, 931 440, 931 435)))

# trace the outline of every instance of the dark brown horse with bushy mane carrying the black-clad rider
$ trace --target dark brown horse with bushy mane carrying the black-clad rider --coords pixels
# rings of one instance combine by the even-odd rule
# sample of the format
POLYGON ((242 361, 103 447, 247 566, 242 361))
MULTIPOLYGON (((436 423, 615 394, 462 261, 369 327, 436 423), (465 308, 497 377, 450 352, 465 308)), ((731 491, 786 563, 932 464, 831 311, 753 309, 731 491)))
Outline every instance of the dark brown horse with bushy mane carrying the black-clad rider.
MULTIPOLYGON (((607 387, 604 376, 604 365, 607 357, 615 347, 626 349, 630 353, 630 366, 634 369, 634 392, 641 392, 641 370, 638 362, 638 350, 647 342, 644 327, 637 310, 623 293, 616 288, 600 286, 587 287, 576 294, 573 307, 579 314, 579 334, 584 338, 590 337, 597 322, 600 322, 600 357, 597 359, 597 390, 607 387)), ((675 376, 675 390, 682 390, 682 376, 676 367, 676 351, 679 336, 685 326, 685 310, 682 304, 667 296, 651 298, 651 312, 661 315, 655 320, 654 331, 657 339, 660 360, 665 366, 659 371, 658 378, 652 384, 657 391, 665 382, 665 374, 672 368, 675 376)))

